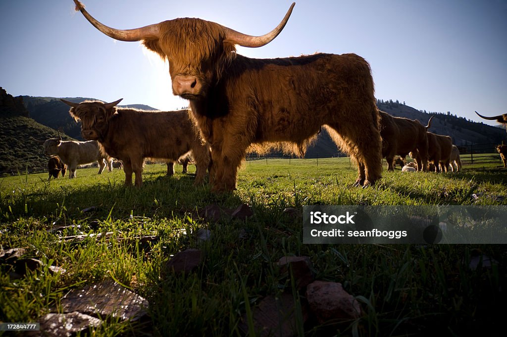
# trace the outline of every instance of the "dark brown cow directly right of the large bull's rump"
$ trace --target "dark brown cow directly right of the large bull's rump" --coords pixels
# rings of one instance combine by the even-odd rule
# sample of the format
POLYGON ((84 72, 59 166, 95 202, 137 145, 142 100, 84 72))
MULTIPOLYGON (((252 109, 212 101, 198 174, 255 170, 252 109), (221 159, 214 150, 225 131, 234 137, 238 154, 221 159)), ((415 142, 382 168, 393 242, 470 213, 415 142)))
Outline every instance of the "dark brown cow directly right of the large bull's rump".
POLYGON ((423 126, 417 120, 394 117, 386 112, 380 112, 382 157, 387 160, 387 170, 394 171, 395 155, 405 158, 410 152, 418 151, 421 154, 416 158, 418 170, 426 171, 428 153, 426 131, 431 125, 431 118, 427 126, 423 126))

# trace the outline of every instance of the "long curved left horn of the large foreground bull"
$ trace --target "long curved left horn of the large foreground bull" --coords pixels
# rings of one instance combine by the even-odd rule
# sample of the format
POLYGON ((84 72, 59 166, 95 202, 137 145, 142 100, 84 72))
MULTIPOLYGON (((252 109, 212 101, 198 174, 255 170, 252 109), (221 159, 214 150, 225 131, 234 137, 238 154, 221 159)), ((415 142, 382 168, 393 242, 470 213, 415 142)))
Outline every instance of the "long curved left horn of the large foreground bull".
POLYGON ((74 3, 76 3, 76 11, 80 11, 84 17, 90 21, 93 26, 95 26, 95 28, 115 40, 133 42, 144 39, 158 39, 160 36, 158 24, 151 24, 149 26, 126 30, 111 28, 98 22, 95 18, 88 14, 85 10, 85 6, 81 2, 74 0, 74 3))

